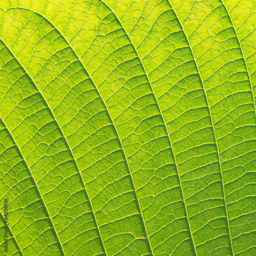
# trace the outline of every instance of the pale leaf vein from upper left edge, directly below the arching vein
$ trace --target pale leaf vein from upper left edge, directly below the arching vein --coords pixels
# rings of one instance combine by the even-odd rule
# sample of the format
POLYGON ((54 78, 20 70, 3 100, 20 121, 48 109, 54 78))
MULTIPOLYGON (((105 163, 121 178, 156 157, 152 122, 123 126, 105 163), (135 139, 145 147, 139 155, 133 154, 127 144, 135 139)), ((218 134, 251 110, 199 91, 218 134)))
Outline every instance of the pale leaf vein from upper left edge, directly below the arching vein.
MULTIPOLYGON (((17 8, 18 8, 18 7, 17 7, 17 8)), ((11 9, 11 8, 10 8, 10 9, 11 9)), ((18 9, 23 9, 23 8, 18 8, 18 9)), ((31 10, 30 10, 30 11, 31 11, 31 10)), ((2 39, 2 38, 1 38, 1 39, 2 39)), ((3 39, 2 39, 2 41, 3 41, 3 39)), ((3 42, 4 42, 4 41, 3 41, 3 42)), ((4 44, 5 44, 5 42, 4 42, 4 44)), ((6 44, 5 44, 5 45, 6 45, 6 44)), ((8 47, 7 45, 6 45, 6 47, 9 49, 9 47, 8 47)), ((83 186, 84 186, 84 189, 86 190, 86 193, 87 193, 87 195, 88 195, 88 199, 89 199, 90 204, 91 204, 91 206, 92 206, 92 212, 93 212, 93 214, 94 214, 94 218, 95 218, 95 221, 96 221, 97 228, 98 228, 98 230, 99 230, 99 235, 100 235, 100 238, 101 238, 101 241, 102 241, 102 245, 103 245, 103 248, 104 248, 105 253, 106 253, 105 245, 104 245, 104 242, 103 242, 103 239, 102 239, 101 233, 100 233, 100 229, 99 229, 99 225, 98 225, 98 222, 97 222, 97 219, 96 219, 95 211, 94 211, 94 209, 93 209, 93 205, 92 205, 92 202, 91 202, 90 196, 89 196, 89 194, 88 194, 88 191, 87 191, 86 185, 84 184, 84 181, 83 181, 83 178, 82 178, 82 174, 81 174, 81 170, 80 170, 80 168, 79 168, 79 166, 78 166, 78 164, 77 164, 77 161, 76 161, 76 159, 75 159, 75 157, 74 157, 74 154, 73 154, 72 148, 71 148, 71 146, 69 145, 69 142, 68 142, 68 140, 67 140, 67 138, 66 138, 65 134, 63 133, 62 128, 61 128, 61 126, 59 125, 59 123, 58 123, 58 121, 57 121, 57 119, 56 119, 55 115, 53 114, 53 111, 52 111, 52 109, 50 108, 50 105, 48 104, 48 102, 47 102, 47 100, 46 100, 46 98, 45 98, 44 94, 42 94, 42 92, 39 90, 39 88, 37 87, 37 85, 36 85, 36 83, 35 83, 34 79, 30 76, 30 74, 27 72, 26 68, 22 65, 22 63, 20 63, 20 62, 19 62, 19 60, 17 59, 17 57, 15 56, 15 54, 12 52, 12 50, 11 50, 11 49, 9 49, 9 51, 10 51, 10 52, 13 54, 13 56, 16 58, 16 60, 18 61, 19 65, 20 65, 21 67, 23 67, 23 69, 24 69, 24 70, 26 71, 26 73, 29 75, 29 77, 31 78, 31 80, 32 80, 32 81, 33 81, 33 83, 35 84, 35 86, 36 86, 37 90, 40 92, 40 94, 41 94, 41 95, 42 95, 42 97, 44 98, 44 100, 45 100, 46 104, 48 105, 49 110, 51 111, 51 113, 52 113, 52 115, 53 115, 53 117, 54 117, 55 121, 57 122, 57 124, 58 124, 58 126, 59 126, 59 129, 60 129, 60 131, 61 131, 61 133, 62 133, 63 137, 65 138, 65 140, 66 140, 66 142, 67 142, 67 144, 68 144, 68 146, 69 146, 69 148, 70 148, 70 153, 71 153, 71 155, 72 155, 73 159, 75 160, 75 163, 76 163, 76 165, 77 165, 77 168, 78 168, 79 174, 80 174, 80 176, 81 176, 82 184, 83 184, 83 186)), ((17 144, 17 143, 16 143, 16 144, 17 144)), ((38 190, 39 190, 39 188, 38 188, 38 190)), ((41 194, 40 194, 40 195, 41 195, 41 194)), ((46 208, 47 208, 47 207, 46 207, 46 208)), ((48 209, 47 209, 47 211, 48 211, 48 209)), ((48 214, 49 214, 49 211, 48 211, 48 214)), ((50 214, 49 214, 49 216, 50 216, 50 214)), ((50 217, 50 218, 51 218, 51 217, 50 217)), ((56 231, 56 229, 55 229, 55 231, 56 231)), ((57 233, 57 232, 56 232, 56 233, 57 233)), ((58 236, 58 234, 57 234, 57 236, 58 236)), ((59 241, 59 243, 60 243, 60 241, 59 241)), ((61 243, 60 243, 60 244, 61 244, 61 243)), ((62 248, 62 245, 61 245, 61 248, 62 248)), ((62 249, 63 249, 63 248, 62 248, 62 249)), ((63 250, 63 251, 64 251, 64 250, 63 250)), ((108 253, 106 253, 106 255, 108 255, 108 253)))

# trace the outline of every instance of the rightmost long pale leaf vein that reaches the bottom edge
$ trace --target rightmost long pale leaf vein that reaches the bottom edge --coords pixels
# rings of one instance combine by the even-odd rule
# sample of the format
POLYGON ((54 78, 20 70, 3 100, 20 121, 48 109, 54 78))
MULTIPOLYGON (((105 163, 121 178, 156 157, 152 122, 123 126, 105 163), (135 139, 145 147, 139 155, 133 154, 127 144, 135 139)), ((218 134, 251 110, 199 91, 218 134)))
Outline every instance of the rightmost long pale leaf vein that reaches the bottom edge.
POLYGON ((194 57, 194 59, 195 59, 196 68, 197 68, 198 74, 199 74, 200 79, 201 79, 201 81, 202 81, 203 90, 204 90, 205 98, 206 98, 206 101, 207 101, 207 106, 208 106, 209 113, 210 113, 211 125, 212 125, 212 129, 213 129, 213 131, 214 131, 214 138, 215 138, 216 146, 217 146, 217 153, 218 153, 218 158, 219 158, 219 163, 220 163, 220 171, 221 171, 221 181, 222 181, 222 187, 223 187, 223 196, 224 196, 224 203, 225 203, 225 210, 226 210, 226 217, 227 217, 227 224, 228 224, 228 232, 229 232, 229 237, 230 237, 230 244, 231 244, 231 249, 232 249, 232 255, 234 255, 233 245, 232 245, 232 237, 231 237, 231 231, 230 231, 229 219, 228 219, 227 202, 226 202, 225 186, 224 186, 224 179, 223 179, 222 166, 221 166, 220 151, 219 151, 219 146, 218 146, 218 142, 217 142, 217 137, 216 137, 215 127, 214 127, 214 122, 213 122, 213 120, 212 120, 212 115, 211 115, 211 111, 210 111, 210 105, 209 105, 208 97, 207 97, 207 94, 206 94, 206 91, 205 91, 205 87, 204 87, 204 81, 203 81, 203 78, 202 78, 201 73, 200 73, 200 71, 199 71, 199 68, 198 68, 198 65, 197 65, 197 59, 196 59, 196 57, 195 57, 195 55, 194 55, 193 49, 192 49, 192 47, 191 47, 191 45, 190 45, 190 42, 189 42, 189 40, 188 40, 186 31, 185 31, 185 29, 183 28, 183 25, 182 25, 182 23, 181 23, 181 21, 180 21, 178 15, 177 15, 175 9, 173 8, 172 4, 170 3, 170 0, 168 0, 168 2, 169 2, 169 4, 170 4, 170 7, 174 10, 174 13, 175 13, 177 19, 179 20, 179 23, 180 23, 180 25, 181 25, 181 27, 182 27, 182 29, 183 29, 183 31, 184 31, 184 35, 185 35, 185 37, 186 37, 186 39, 187 39, 187 43, 188 43, 188 45, 189 45, 189 47, 190 47, 190 50, 191 50, 191 53, 192 53, 192 55, 193 55, 193 57, 194 57))

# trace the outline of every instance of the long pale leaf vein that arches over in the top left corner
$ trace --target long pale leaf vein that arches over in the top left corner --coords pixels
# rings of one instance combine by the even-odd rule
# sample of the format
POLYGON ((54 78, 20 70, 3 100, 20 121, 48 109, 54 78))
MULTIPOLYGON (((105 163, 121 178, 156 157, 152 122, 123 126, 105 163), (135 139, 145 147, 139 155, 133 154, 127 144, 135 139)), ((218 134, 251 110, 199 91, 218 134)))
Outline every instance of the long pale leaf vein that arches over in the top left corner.
MULTIPOLYGON (((2 9, 3 9, 3 8, 2 8, 2 9)), ((29 8, 25 8, 25 7, 11 7, 11 8, 6 9, 5 11, 10 10, 10 9, 25 9, 25 10, 32 11, 32 12, 34 12, 34 13, 37 13, 37 14, 40 15, 41 17, 44 17, 50 24, 52 24, 52 23, 50 22, 50 20, 49 20, 46 16, 42 15, 41 13, 39 13, 39 12, 37 12, 37 11, 31 10, 31 9, 29 9, 29 8)), ((3 10, 4 10, 4 9, 3 9, 3 10)), ((83 62, 82 62, 82 60, 81 60, 81 58, 77 55, 76 51, 74 50, 74 48, 72 47, 72 45, 70 44, 70 42, 68 41, 68 39, 56 28, 55 25, 52 24, 52 26, 53 26, 53 27, 63 36, 63 38, 67 41, 68 45, 71 47, 71 49, 73 50, 73 52, 74 52, 74 54, 76 55, 76 57, 80 60, 81 65, 83 66, 84 70, 86 70, 86 72, 88 73, 90 79, 91 79, 92 82, 94 83, 94 86, 95 86, 95 88, 96 88, 98 94, 100 95, 100 97, 101 97, 101 99, 102 99, 102 101, 103 101, 103 103, 104 103, 104 105, 105 105, 105 108, 106 108, 106 110, 107 110, 108 113, 109 113, 109 116, 110 116, 110 118, 111 118, 111 120, 112 120, 112 123, 113 123, 113 125, 114 125, 114 127, 115 127, 115 129, 116 129, 116 132, 117 132, 117 135, 118 135, 118 138, 119 138, 119 141, 120 141, 120 144, 121 144, 121 146, 122 146, 122 150, 123 150, 123 153, 124 153, 124 156, 125 156, 125 160, 126 160, 126 162, 127 162, 127 166, 129 167, 129 171, 130 171, 130 174, 131 174, 130 165, 129 165, 129 162, 127 161, 127 157, 126 157, 126 155, 125 155, 124 148, 123 148, 122 141, 121 141, 121 139, 120 139, 119 133, 118 133, 117 128, 116 128, 116 126, 115 126, 115 124, 114 124, 114 121, 113 121, 112 116, 111 116, 111 114, 110 114, 110 112, 109 112, 109 109, 108 109, 108 107, 106 106, 105 101, 103 100, 103 97, 102 97, 101 93, 99 92, 98 87, 96 86, 96 84, 95 84, 93 78, 91 77, 91 74, 88 72, 88 70, 87 70, 86 67, 84 66, 84 64, 83 64, 83 62)), ((26 69, 25 69, 25 70, 26 70, 26 69)), ((31 79, 32 79, 32 78, 31 78, 31 79)), ((39 89, 38 89, 38 90, 39 90, 39 89)), ((39 91, 40 91, 40 90, 39 90, 39 91)), ((44 97, 44 96, 43 96, 43 97, 44 97)), ((46 101, 46 102, 47 102, 47 101, 46 101)), ((47 102, 47 104, 48 104, 48 102, 47 102)), ((50 108, 50 106, 49 106, 49 108, 50 108)), ((51 110, 51 108, 50 108, 50 110, 51 110)), ((52 111, 52 110, 51 110, 51 111, 52 111)), ((53 112, 52 112, 52 114, 53 114, 53 112)), ((54 116, 54 115, 53 115, 53 116, 54 116)), ((55 116, 54 116, 54 117, 55 117, 55 116)), ((55 119, 56 119, 56 118, 55 118, 55 119)), ((57 121, 57 120, 56 120, 56 121, 57 121)), ((57 122, 57 123, 58 123, 58 122, 57 122)), ((58 125, 59 125, 59 124, 58 124, 58 125)), ((60 127, 60 125, 59 125, 59 127, 60 127)), ((61 129, 61 127, 60 127, 60 129, 61 129)), ((62 129, 61 129, 61 131, 62 131, 62 129)), ((63 131, 62 131, 62 133, 63 133, 63 131)), ((64 133, 63 133, 63 135, 64 135, 64 133)), ((65 138, 66 138, 66 137, 65 137, 65 138)), ((67 139, 66 139, 66 140, 67 140, 67 139)), ((68 143, 68 141, 67 141, 67 143, 68 143)), ((68 145, 69 145, 69 143, 68 143, 68 145)), ((71 147, 70 147, 70 149, 71 149, 71 147)), ((71 153, 72 153, 72 155, 73 155, 72 150, 71 150, 71 153)), ((73 157, 74 157, 74 155, 73 155, 73 157)), ((74 159, 75 159, 75 158, 74 158, 74 159)), ((76 159, 75 159, 75 161, 76 161, 76 159)), ((77 165, 77 167, 78 167, 78 165, 77 165)), ((79 167, 78 167, 78 169, 79 169, 79 167)), ((80 172, 80 169, 79 169, 79 172, 80 172)), ((81 174, 81 172, 80 172, 80 174, 81 174)), ((81 176, 81 177, 82 177, 82 176, 81 176)), ((132 178, 132 181, 133 181, 132 174, 131 174, 131 178, 132 178)), ((82 181, 83 181, 83 179, 82 179, 82 181)), ((84 181, 83 181, 83 184, 84 184, 84 181)), ((138 198, 138 195, 137 195, 137 191, 136 191, 136 188, 135 188, 134 181, 133 181, 133 185, 134 185, 135 193, 136 193, 136 196, 137 196, 139 208, 140 208, 140 211, 141 211, 141 206, 140 206, 140 202, 139 202, 139 198, 138 198)), ((85 184, 84 184, 84 187, 86 188, 85 184)), ((87 194, 88 194, 88 193, 87 193, 87 194)), ((89 198, 89 200, 90 200, 90 202, 91 202, 91 199, 90 199, 89 194, 88 194, 88 198, 89 198)), ((91 206, 92 206, 92 209, 93 209, 92 203, 91 203, 91 206)), ((93 213, 94 213, 94 217, 95 217, 95 220, 96 220, 98 229, 99 229, 99 225, 98 225, 98 222, 97 222, 97 219, 96 219, 96 215, 95 215, 94 210, 93 210, 93 213)), ((143 223, 144 223, 144 225, 145 225, 145 221, 144 221, 144 218, 143 218, 143 215, 142 215, 142 211, 141 211, 141 217, 142 217, 143 223)), ((146 226, 145 226, 145 230, 146 230, 146 226)), ((100 230, 99 230, 99 233, 100 233, 100 230)), ((148 243, 150 244, 150 239, 149 239, 149 237, 148 237, 147 230, 146 230, 146 235, 147 235, 148 243)), ((100 237, 101 237, 101 233, 100 233, 100 237)), ((103 247, 104 247, 104 250, 105 250, 105 253, 106 253, 106 249, 105 249, 105 246, 104 246, 104 242, 103 242, 102 237, 101 237, 101 240, 102 240, 102 244, 103 244, 103 247)), ((152 250, 151 244, 150 244, 150 247, 151 247, 151 250, 152 250)), ((153 250, 152 250, 152 253, 153 253, 153 250)), ((106 253, 106 254, 107 254, 107 253, 106 253)), ((153 253, 153 254, 154 254, 154 253, 153 253)), ((108 254, 107 254, 107 255, 108 255, 108 254)))

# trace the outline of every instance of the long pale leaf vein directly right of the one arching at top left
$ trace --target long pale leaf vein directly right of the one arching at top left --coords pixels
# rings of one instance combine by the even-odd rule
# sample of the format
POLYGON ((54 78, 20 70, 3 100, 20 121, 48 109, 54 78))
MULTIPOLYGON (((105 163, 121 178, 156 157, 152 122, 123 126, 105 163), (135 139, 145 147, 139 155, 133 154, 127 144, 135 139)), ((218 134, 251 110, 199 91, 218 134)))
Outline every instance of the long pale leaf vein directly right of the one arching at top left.
POLYGON ((177 173, 178 173, 178 177, 179 177, 179 182, 180 182, 182 197, 183 197, 183 201, 184 201, 184 206, 185 206, 185 211, 186 211, 186 216, 187 216, 187 222, 188 222, 188 226, 189 226, 189 231, 190 231, 191 239, 192 239, 192 241, 193 241, 193 245, 194 245, 194 247, 195 247, 195 252, 196 252, 196 255, 197 255, 197 249, 196 249, 195 241, 194 241, 194 238, 193 238, 193 232, 192 232, 192 230, 191 230, 190 223, 189 223, 189 218, 188 218, 188 213, 187 213, 187 206, 186 206, 186 201, 185 201, 184 192, 183 192, 183 188, 182 188, 182 183, 181 183, 181 179, 180 179, 179 168, 178 168, 176 156, 175 156, 174 149, 173 149, 173 143, 172 143, 172 141, 170 140, 168 128, 167 128, 166 122, 165 122, 165 120, 164 120, 163 113, 162 113, 162 111, 161 111, 160 105, 159 105, 159 103, 158 103, 158 100, 157 100, 155 91, 153 90, 153 87, 152 87, 150 78, 148 77, 148 74, 147 74, 146 69, 145 69, 145 67, 144 67, 144 64, 143 64, 143 62, 142 62, 142 59, 140 58, 139 53, 138 53, 138 51, 137 51, 137 49, 136 49, 136 47, 135 47, 135 45, 134 45, 134 43, 133 43, 133 41, 132 41, 130 35, 127 33, 126 29, 125 29, 124 26, 122 25, 120 19, 118 18, 118 16, 117 16, 116 13, 114 12, 114 10, 112 10, 111 7, 110 7, 108 4, 106 4, 103 0, 101 0, 101 1, 102 1, 106 6, 108 6, 108 8, 115 14, 115 16, 116 16, 116 18, 118 19, 120 25, 121 25, 122 28, 124 29, 126 35, 129 37, 129 39, 130 39, 130 41, 131 41, 131 44, 133 45, 133 48, 134 48, 134 50, 135 50, 135 52, 136 52, 136 54, 137 54, 137 56, 138 56, 138 58, 139 58, 139 60, 140 60, 140 62, 141 62, 141 65, 142 65, 142 67, 143 67, 143 71, 144 71, 144 73, 145 73, 145 75, 146 75, 146 77, 147 77, 147 80, 148 80, 148 82, 150 83, 151 90, 152 90, 152 92, 153 92, 153 94, 154 94, 154 97, 155 97, 156 102, 157 102, 157 105, 158 105, 158 109, 159 109, 160 114, 161 114, 161 116, 162 116, 162 120, 163 120, 163 123, 164 123, 164 126, 165 126, 165 130, 166 130, 166 133, 167 133, 167 137, 168 137, 168 140, 169 140, 169 143, 170 143, 170 148, 172 149, 172 152, 173 152, 173 154, 174 154, 174 160, 175 160, 175 165, 176 165, 177 173))

